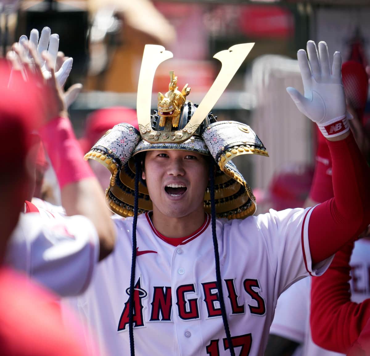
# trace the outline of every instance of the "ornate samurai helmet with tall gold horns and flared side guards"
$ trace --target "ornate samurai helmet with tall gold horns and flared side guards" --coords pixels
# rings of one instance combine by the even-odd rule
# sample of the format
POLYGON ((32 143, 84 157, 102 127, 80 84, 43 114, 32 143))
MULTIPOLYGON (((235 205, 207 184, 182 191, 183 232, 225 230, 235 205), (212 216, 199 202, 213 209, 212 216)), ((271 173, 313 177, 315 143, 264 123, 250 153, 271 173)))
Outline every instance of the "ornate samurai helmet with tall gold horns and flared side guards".
MULTIPOLYGON (((149 150, 188 150, 212 156, 217 165, 216 216, 245 218, 256 211, 252 189, 231 160, 242 154, 268 156, 266 148, 248 125, 217 121, 210 112, 252 47, 253 44, 235 45, 214 56, 222 62, 222 68, 199 106, 187 100, 191 90, 188 84, 178 90, 177 77, 173 71, 169 72, 169 90, 158 93, 158 110, 151 114, 155 70, 172 53, 162 46, 145 46, 137 93, 139 130, 127 123, 118 124, 85 155, 85 159, 97 160, 110 170, 112 176, 105 196, 114 213, 124 217, 134 215, 134 156, 149 150)), ((209 187, 204 195, 204 207, 206 212, 211 211, 209 187)), ((148 189, 141 181, 138 213, 151 209, 148 189)))

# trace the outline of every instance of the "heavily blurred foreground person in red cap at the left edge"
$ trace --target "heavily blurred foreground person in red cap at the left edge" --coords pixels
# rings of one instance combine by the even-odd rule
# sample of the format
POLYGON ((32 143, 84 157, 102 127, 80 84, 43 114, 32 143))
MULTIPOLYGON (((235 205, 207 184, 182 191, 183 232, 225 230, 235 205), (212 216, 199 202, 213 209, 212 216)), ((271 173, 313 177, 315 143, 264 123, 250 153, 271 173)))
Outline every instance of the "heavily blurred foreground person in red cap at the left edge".
MULTIPOLYGON (((0 166, 0 353, 2 356, 86 356, 94 346, 87 349, 84 345, 82 326, 75 318, 69 314, 69 322, 64 325, 55 296, 4 263, 7 241, 19 220, 31 181, 28 162, 31 130, 37 129, 43 116, 38 97, 40 86, 36 86, 31 75, 25 83, 13 73, 12 87, 16 90, 8 89, 9 74, 8 64, 1 60, 0 142, 3 145, 2 157, 7 159, 0 166)), ((47 95, 47 92, 42 93, 47 95)), ((88 223, 86 229, 90 233, 92 231, 97 240, 92 223, 82 216, 79 221, 88 223)), ((24 222, 21 218, 21 224, 24 222)), ((46 234, 44 243, 49 242, 47 237, 57 236, 55 230, 48 231, 46 224, 38 219, 28 222, 29 224, 23 225, 26 233, 28 230, 38 230, 39 234, 46 234)), ((70 222, 64 226, 69 227, 70 222)), ((82 241, 81 237, 85 239, 89 232, 80 233, 77 240, 82 241)), ((66 239, 67 236, 60 233, 58 237, 66 239)), ((34 246, 30 244, 29 247, 34 246)), ((51 257, 50 249, 39 249, 38 253, 41 254, 43 250, 51 257)), ((18 259, 24 257, 17 256, 18 259)))

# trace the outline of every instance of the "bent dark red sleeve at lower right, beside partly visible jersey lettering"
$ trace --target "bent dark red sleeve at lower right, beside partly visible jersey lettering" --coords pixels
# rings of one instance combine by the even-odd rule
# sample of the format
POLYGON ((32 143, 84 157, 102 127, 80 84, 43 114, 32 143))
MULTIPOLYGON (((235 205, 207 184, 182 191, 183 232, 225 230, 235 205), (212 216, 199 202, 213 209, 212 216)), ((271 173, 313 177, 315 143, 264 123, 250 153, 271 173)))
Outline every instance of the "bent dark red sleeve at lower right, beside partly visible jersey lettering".
POLYGON ((346 353, 370 317, 370 299, 350 301, 349 261, 353 243, 335 254, 328 270, 312 278, 310 325, 314 343, 346 353))

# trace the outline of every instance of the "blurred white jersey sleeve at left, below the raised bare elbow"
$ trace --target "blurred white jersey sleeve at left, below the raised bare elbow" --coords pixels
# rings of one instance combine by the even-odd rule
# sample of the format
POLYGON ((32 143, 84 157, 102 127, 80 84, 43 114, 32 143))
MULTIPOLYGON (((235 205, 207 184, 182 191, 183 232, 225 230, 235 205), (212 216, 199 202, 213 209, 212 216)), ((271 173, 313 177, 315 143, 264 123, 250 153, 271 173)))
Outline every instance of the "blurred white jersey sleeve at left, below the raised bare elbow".
POLYGON ((82 293, 99 256, 94 225, 84 216, 43 219, 21 214, 6 253, 7 264, 61 296, 82 293))

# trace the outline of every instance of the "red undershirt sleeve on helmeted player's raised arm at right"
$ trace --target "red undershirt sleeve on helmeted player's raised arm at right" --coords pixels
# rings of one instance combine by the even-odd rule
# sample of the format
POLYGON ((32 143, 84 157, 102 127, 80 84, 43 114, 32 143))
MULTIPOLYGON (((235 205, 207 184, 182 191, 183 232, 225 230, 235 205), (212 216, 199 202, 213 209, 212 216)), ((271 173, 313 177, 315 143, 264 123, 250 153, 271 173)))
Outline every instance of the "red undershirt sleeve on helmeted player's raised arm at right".
POLYGON ((370 171, 353 135, 327 141, 334 198, 313 209, 308 233, 313 264, 353 241, 370 222, 370 171))

